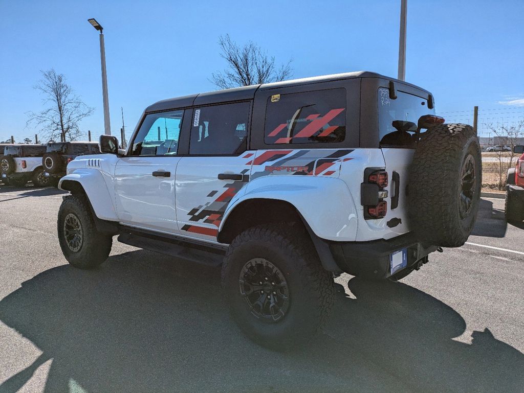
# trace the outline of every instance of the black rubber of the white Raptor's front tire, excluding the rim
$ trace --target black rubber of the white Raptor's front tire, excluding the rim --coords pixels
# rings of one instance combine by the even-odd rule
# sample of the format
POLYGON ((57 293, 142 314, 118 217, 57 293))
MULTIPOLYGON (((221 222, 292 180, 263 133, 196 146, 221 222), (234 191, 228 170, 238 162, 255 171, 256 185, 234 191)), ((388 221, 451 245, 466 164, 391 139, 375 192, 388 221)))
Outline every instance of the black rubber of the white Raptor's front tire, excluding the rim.
POLYGON ((91 206, 88 199, 83 195, 68 195, 63 198, 58 211, 57 229, 62 253, 74 267, 94 268, 103 263, 111 252, 113 237, 96 230, 91 206), (68 245, 66 239, 64 222, 67 217, 75 217, 80 222, 82 239, 80 248, 76 251, 68 245))

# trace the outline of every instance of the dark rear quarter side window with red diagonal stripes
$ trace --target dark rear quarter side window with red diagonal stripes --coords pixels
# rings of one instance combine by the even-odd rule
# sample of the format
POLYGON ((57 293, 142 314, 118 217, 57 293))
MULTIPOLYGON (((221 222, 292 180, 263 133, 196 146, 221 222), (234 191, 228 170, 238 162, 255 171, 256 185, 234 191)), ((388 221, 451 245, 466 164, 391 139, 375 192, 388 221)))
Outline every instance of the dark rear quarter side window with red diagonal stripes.
POLYGON ((346 89, 274 94, 268 98, 264 142, 333 143, 346 138, 346 89))

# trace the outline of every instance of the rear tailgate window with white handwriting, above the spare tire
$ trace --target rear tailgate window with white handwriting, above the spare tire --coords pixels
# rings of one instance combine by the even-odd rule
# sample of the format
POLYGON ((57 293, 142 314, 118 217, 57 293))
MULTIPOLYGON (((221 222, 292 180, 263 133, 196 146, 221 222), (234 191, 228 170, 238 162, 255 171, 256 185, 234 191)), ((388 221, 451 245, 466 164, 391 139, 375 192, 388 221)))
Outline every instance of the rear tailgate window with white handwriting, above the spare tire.
POLYGON ((414 147, 413 134, 420 116, 435 114, 428 108, 428 100, 397 91, 397 98, 389 98, 389 89, 378 89, 378 129, 380 147, 414 147))

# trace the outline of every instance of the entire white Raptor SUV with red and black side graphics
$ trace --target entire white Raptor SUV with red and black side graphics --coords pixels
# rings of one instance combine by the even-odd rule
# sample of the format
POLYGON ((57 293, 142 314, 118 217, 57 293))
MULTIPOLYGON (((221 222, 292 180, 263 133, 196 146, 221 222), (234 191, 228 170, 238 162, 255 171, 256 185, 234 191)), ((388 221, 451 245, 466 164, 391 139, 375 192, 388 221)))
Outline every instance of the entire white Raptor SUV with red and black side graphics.
POLYGON ((285 350, 328 320, 333 277, 398 280, 464 244, 481 187, 472 127, 371 72, 246 86, 146 108, 128 148, 70 162, 58 235, 93 268, 118 241, 222 265, 253 340, 285 350))

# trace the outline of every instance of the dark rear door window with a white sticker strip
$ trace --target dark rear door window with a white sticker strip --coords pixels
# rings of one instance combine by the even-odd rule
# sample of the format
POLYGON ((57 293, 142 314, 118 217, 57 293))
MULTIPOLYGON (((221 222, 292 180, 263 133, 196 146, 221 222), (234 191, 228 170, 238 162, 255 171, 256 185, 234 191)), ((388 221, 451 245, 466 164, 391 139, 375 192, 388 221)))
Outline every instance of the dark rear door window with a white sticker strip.
POLYGON ((249 103, 196 108, 193 113, 190 154, 238 154, 246 150, 249 103))

